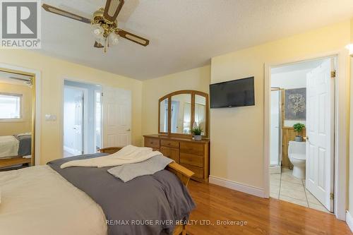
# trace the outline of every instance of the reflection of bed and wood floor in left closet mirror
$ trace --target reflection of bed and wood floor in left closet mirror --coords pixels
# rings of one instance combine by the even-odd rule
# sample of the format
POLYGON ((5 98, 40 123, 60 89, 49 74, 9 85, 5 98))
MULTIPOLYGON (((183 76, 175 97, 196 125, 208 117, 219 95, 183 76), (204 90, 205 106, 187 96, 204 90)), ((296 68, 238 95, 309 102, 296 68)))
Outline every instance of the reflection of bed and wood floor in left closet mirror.
POLYGON ((31 133, 0 136, 0 168, 30 164, 32 152, 31 133))

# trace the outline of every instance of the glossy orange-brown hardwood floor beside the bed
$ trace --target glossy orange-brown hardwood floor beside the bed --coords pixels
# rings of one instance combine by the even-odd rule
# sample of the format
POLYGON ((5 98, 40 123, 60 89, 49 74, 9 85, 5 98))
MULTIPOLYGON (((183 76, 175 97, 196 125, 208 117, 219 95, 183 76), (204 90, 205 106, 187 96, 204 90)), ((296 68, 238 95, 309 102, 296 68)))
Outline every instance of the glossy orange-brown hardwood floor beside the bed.
POLYGON ((347 224, 334 215, 301 205, 196 181, 190 181, 189 191, 196 203, 196 209, 191 212, 191 225, 186 227, 190 235, 352 234, 347 224), (208 219, 214 225, 203 225, 208 219), (217 225, 217 220, 247 224, 217 225))

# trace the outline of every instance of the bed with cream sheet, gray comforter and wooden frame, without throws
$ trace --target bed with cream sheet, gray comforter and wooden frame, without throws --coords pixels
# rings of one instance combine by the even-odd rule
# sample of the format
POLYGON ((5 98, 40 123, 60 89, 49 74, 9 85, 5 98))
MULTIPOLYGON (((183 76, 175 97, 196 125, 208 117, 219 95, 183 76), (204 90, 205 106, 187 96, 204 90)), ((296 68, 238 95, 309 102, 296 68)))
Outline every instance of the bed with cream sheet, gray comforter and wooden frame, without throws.
POLYGON ((192 171, 172 162, 123 183, 106 167, 60 169, 67 160, 0 172, 0 234, 186 234, 195 206, 186 190, 192 171))

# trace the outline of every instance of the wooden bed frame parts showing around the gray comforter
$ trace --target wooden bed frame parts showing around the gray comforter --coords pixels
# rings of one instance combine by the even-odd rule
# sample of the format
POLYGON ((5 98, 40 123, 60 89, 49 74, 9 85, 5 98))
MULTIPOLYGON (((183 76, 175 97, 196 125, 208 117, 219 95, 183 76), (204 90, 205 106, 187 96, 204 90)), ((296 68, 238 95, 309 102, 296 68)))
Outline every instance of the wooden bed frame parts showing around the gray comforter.
MULTIPOLYGON (((104 147, 99 151, 104 153, 112 154, 114 152, 118 152, 122 147, 104 147)), ((193 176, 193 171, 186 169, 185 167, 177 164, 176 162, 170 163, 167 168, 168 171, 171 171, 173 174, 177 175, 181 182, 187 187, 191 176, 193 176)), ((186 235, 186 225, 177 225, 174 228, 173 235, 186 235)))

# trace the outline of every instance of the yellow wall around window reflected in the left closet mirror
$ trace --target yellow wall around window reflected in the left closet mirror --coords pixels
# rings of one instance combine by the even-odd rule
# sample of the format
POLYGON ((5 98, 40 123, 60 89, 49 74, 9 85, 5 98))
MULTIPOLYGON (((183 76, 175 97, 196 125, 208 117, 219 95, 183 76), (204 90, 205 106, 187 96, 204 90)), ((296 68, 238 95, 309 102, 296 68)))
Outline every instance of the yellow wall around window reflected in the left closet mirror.
POLYGON ((0 121, 0 135, 30 132, 32 129, 32 88, 28 85, 0 83, 0 92, 22 94, 22 119, 0 121))

